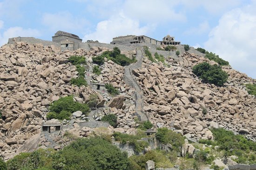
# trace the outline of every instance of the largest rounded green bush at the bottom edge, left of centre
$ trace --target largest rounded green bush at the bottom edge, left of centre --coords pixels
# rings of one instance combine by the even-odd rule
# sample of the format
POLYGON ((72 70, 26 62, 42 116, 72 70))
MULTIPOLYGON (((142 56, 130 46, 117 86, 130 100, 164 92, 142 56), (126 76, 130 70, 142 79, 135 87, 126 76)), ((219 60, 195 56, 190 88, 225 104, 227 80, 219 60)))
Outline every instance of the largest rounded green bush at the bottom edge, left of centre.
POLYGON ((77 139, 56 154, 56 170, 128 170, 126 152, 99 138, 77 139))

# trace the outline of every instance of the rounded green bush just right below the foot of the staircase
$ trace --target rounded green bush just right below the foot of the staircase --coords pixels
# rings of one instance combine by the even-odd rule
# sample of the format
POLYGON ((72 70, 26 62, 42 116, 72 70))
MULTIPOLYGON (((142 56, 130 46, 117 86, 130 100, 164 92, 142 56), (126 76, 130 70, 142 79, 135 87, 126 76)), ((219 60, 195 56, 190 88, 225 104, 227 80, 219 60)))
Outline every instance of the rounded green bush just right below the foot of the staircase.
POLYGON ((179 151, 180 147, 184 144, 184 137, 166 127, 158 128, 155 133, 155 138, 163 144, 171 144, 175 151, 179 151))

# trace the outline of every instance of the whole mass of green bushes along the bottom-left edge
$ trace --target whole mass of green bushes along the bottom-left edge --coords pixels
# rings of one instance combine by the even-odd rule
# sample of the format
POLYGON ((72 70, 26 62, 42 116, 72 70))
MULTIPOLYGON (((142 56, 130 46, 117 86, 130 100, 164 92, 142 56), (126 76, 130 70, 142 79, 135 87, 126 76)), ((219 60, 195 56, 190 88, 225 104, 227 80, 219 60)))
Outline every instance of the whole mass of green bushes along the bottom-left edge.
POLYGON ((131 170, 126 152, 100 138, 76 139, 60 151, 20 153, 7 170, 131 170))

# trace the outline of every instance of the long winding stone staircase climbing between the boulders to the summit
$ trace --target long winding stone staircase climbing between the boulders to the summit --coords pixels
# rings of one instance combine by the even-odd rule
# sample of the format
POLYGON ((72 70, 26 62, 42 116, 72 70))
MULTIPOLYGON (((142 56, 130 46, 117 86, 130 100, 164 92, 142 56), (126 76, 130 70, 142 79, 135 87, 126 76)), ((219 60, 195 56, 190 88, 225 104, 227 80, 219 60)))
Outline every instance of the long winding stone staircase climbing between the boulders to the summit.
POLYGON ((135 114, 141 121, 147 121, 148 116, 143 111, 143 98, 141 87, 138 82, 132 77, 133 69, 141 69, 143 54, 141 49, 137 49, 137 62, 124 67, 124 82, 135 88, 135 114))

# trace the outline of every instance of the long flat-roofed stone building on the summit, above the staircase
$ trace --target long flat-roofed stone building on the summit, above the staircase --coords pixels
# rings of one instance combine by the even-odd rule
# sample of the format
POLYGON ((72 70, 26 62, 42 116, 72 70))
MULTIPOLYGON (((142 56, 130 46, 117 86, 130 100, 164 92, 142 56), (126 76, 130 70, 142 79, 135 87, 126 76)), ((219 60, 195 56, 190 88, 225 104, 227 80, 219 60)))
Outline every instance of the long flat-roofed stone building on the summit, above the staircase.
POLYGON ((113 38, 112 42, 110 42, 110 44, 140 44, 140 43, 148 43, 148 44, 156 44, 156 45, 161 44, 160 41, 144 35, 119 36, 119 37, 113 38))

